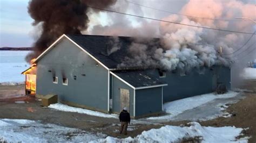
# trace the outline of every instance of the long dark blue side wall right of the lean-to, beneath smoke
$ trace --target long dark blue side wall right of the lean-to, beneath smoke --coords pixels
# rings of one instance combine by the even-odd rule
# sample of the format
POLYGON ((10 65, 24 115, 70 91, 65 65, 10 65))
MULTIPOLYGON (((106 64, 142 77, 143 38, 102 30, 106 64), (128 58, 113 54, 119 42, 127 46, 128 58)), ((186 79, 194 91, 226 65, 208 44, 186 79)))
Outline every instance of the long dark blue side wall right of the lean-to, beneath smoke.
MULTIPOLYGON (((158 70, 150 70, 150 72, 159 77, 158 70)), ((213 92, 217 87, 217 82, 220 81, 230 89, 231 73, 230 68, 214 66, 200 72, 193 69, 185 76, 181 76, 179 72, 169 71, 166 77, 160 79, 168 84, 164 87, 164 102, 170 102, 213 92)))

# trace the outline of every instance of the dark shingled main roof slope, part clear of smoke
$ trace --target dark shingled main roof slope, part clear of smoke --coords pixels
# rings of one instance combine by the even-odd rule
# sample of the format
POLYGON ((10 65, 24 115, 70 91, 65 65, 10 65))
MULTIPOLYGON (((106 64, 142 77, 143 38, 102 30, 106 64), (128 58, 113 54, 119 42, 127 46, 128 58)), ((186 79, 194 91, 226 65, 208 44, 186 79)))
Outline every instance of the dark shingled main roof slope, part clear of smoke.
MULTIPOLYGON (((126 56, 131 56, 128 50, 129 46, 134 41, 134 39, 131 37, 76 34, 68 34, 67 36, 110 69, 117 68, 117 66, 122 63, 126 56), (113 38, 118 38, 120 49, 108 55, 106 54, 106 51, 107 49, 110 50, 113 47, 113 44, 110 44, 111 41, 113 41, 113 38)), ((159 39, 154 38, 153 40, 156 43, 159 43, 159 39)))

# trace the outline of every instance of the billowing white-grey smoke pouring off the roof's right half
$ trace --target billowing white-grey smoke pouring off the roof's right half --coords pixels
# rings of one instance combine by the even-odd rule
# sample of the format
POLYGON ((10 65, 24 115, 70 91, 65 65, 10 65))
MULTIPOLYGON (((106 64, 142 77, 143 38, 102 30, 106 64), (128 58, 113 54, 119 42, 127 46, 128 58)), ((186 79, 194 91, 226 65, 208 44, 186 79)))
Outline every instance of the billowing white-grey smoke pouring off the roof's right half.
MULTIPOLYGON (((236 19, 239 17, 256 19, 255 2, 252 3, 251 1, 191 0, 174 5, 169 2, 132 2, 157 7, 158 9, 166 11, 179 9, 179 11, 174 12, 181 13, 182 15, 143 8, 123 1, 118 1, 116 5, 114 5, 116 9, 114 9, 170 22, 233 31, 254 32, 253 28, 255 24, 253 22, 250 20, 236 19), (124 4, 125 8, 120 9, 124 4), (176 8, 177 5, 180 7, 176 8)), ((251 36, 250 34, 208 30, 205 28, 156 22, 141 18, 133 18, 133 20, 131 20, 129 16, 114 13, 109 13, 108 17, 112 19, 113 23, 107 26, 94 26, 91 30, 91 34, 124 35, 130 37, 144 37, 147 39, 160 38, 161 42, 160 47, 152 46, 154 45, 154 40, 152 39, 147 42, 133 42, 129 49, 132 57, 124 58, 123 63, 120 64, 119 67, 139 66, 160 67, 165 70, 190 70, 191 68, 199 68, 201 66, 231 66, 233 61, 237 61, 237 59, 240 58, 240 56, 236 55, 240 53, 240 51, 235 54, 232 53, 242 47, 245 41, 251 36), (134 26, 132 22, 137 22, 138 25, 134 26), (222 47, 223 55, 219 53, 220 46, 222 47)), ((255 40, 255 36, 251 41, 253 40, 255 40)), ((251 44, 251 41, 248 44, 251 44)), ((250 57, 252 56, 255 58, 256 54, 250 55, 250 57)))

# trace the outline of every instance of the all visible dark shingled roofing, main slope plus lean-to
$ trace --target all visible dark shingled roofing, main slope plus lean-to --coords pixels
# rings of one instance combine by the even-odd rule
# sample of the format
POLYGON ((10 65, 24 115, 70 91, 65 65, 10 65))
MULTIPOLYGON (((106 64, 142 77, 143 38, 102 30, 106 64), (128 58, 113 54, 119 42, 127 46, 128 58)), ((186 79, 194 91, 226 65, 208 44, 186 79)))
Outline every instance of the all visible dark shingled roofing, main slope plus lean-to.
MULTIPOLYGON (((85 51, 89 52, 97 60, 103 63, 107 68, 116 69, 122 63, 124 58, 131 57, 129 47, 134 41, 131 37, 112 37, 103 35, 67 35, 71 40, 76 42, 85 51), (111 54, 107 54, 114 45, 111 44, 114 38, 118 38, 120 49, 111 54)), ((159 39, 151 39, 153 44, 147 44, 148 47, 160 46, 159 39)), ((149 87, 154 85, 163 85, 165 82, 161 81, 158 77, 148 73, 146 70, 116 70, 112 71, 118 77, 122 78, 127 83, 135 88, 149 87)))

